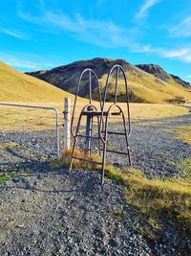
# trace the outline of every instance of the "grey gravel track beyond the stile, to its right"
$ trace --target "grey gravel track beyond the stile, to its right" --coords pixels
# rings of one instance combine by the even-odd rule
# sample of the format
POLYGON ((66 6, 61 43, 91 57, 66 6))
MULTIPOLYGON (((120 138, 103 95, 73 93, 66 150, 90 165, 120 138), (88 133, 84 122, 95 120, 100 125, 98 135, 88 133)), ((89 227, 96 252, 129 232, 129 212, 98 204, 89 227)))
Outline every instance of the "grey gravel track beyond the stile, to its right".
MULTIPOLYGON (((133 167, 141 170, 148 177, 166 177, 182 175, 179 169, 171 165, 191 157, 191 146, 172 136, 180 126, 191 126, 191 114, 176 118, 149 121, 134 121, 130 137, 130 149, 133 167)), ((122 131, 122 126, 112 125, 110 130, 122 131)), ((125 151, 124 139, 109 136, 109 146, 118 151, 125 151)), ((124 156, 108 153, 108 160, 121 166, 128 162, 124 156)))

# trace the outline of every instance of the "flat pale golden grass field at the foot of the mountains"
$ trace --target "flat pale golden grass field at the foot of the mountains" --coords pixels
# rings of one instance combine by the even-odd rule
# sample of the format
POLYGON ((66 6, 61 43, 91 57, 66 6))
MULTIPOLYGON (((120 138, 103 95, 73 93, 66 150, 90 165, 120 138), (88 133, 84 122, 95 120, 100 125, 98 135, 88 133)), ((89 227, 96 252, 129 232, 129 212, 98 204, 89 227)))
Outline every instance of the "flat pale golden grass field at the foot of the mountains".
MULTIPOLYGON (((22 103, 23 104, 23 103, 22 103)), ((25 104, 25 103, 24 103, 25 104)), ((35 105, 34 103, 30 103, 35 105)), ((75 119, 76 123, 79 113, 87 102, 80 101, 76 107, 75 119)), ((39 103, 36 103, 39 105, 39 103)), ((41 104, 40 104, 41 105, 41 104)), ((56 106, 59 111, 59 124, 63 123, 63 106, 64 104, 58 103, 44 103, 45 106, 56 106)), ((98 107, 98 104, 95 103, 98 107)), ((109 104, 106 105, 106 109, 109 104)), ((120 104, 122 109, 126 111, 126 105, 120 104)), ((71 105, 73 109, 73 105, 71 105)), ((149 120, 159 119, 170 116, 179 116, 188 113, 188 108, 180 105, 151 105, 151 104, 131 104, 131 118, 132 120, 149 120)), ((119 122, 120 117, 114 117, 110 119, 110 122, 119 122)), ((12 106, 0 106, 0 127, 4 130, 42 130, 52 129, 55 126, 55 113, 53 110, 41 110, 23 107, 12 107, 12 106)))

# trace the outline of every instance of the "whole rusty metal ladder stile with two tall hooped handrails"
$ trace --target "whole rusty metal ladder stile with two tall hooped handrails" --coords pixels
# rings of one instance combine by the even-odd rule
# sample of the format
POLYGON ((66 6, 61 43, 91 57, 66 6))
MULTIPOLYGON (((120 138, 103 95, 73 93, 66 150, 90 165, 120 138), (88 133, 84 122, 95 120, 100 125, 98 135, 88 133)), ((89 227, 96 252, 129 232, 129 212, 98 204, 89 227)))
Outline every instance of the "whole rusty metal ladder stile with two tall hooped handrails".
MULTIPOLYGON (((71 155, 71 164, 70 164, 70 171, 72 170, 73 167, 73 159, 78 159, 78 160, 83 160, 83 161, 88 161, 92 163, 96 163, 101 165, 101 184, 104 183, 104 170, 105 170, 105 162, 106 162, 106 153, 107 153, 107 135, 108 134, 116 134, 116 135, 124 135, 125 136, 125 141, 126 141, 126 146, 127 146, 127 152, 121 152, 121 151, 109 151, 113 153, 118 153, 118 154, 124 154, 128 156, 129 160, 129 165, 131 166, 131 155, 130 155, 130 148, 129 148, 129 142, 128 142, 128 136, 130 136, 131 133, 131 122, 130 122, 130 107, 129 107, 129 93, 128 93, 128 86, 127 86, 127 80, 125 76, 125 72, 123 68, 120 65, 115 65, 111 68, 111 70, 108 73, 106 84, 105 84, 105 90, 104 90, 104 95, 103 95, 103 102, 101 101, 101 93, 100 93, 100 86, 98 79, 96 77, 96 73, 92 69, 85 69, 79 78, 79 81, 77 83, 76 87, 76 94, 75 94, 75 100, 74 100, 74 109, 73 109, 73 116, 72 116, 72 123, 71 123, 71 133, 74 137, 74 145, 73 145, 73 150, 72 150, 72 155, 71 155), (109 81, 112 76, 112 74, 116 71, 116 85, 115 85, 115 101, 112 105, 109 106, 107 110, 105 110, 105 102, 107 98, 107 91, 108 91, 108 86, 109 86, 109 81), (76 106, 76 99, 78 97, 79 93, 79 86, 82 80, 82 77, 84 76, 85 73, 89 72, 89 105, 85 105, 79 115, 77 126, 75 133, 73 132, 73 126, 74 126, 74 110, 76 106), (126 103, 127 103, 127 118, 125 118, 125 114, 122 110, 122 108, 117 105, 117 85, 118 85, 118 77, 119 77, 119 72, 122 73, 123 75, 123 80, 124 80, 124 85, 125 85, 125 91, 126 91, 126 103), (96 78, 96 82, 98 85, 98 93, 99 93, 99 103, 100 103, 100 111, 97 111, 96 106, 92 105, 92 78, 91 74, 94 74, 96 78), (113 107, 117 107, 118 111, 112 111, 113 107), (92 108, 90 110, 90 108, 92 108), (91 126, 91 120, 93 120, 94 116, 97 117, 97 129, 98 129, 98 136, 92 136, 92 127, 89 128, 89 133, 86 135, 79 134, 79 126, 81 123, 81 118, 83 115, 87 116, 87 125, 91 126), (113 115, 120 115, 122 117, 122 122, 123 122, 123 127, 124 127, 124 132, 114 132, 114 131, 108 131, 108 123, 113 115), (104 120, 105 119, 105 120, 104 120), (126 122, 127 119, 127 122, 126 122), (86 137, 88 139, 98 139, 99 142, 101 141, 103 144, 103 149, 102 149, 102 161, 101 162, 96 162, 92 161, 90 159, 84 159, 81 157, 77 157, 74 155, 74 150, 76 146, 76 140, 77 137, 86 137)), ((90 145, 90 144, 89 144, 90 145)), ((100 145, 100 144, 99 144, 100 145)), ((100 154, 100 147, 99 147, 99 154, 100 154)), ((88 148, 88 154, 91 154, 91 146, 88 148)))

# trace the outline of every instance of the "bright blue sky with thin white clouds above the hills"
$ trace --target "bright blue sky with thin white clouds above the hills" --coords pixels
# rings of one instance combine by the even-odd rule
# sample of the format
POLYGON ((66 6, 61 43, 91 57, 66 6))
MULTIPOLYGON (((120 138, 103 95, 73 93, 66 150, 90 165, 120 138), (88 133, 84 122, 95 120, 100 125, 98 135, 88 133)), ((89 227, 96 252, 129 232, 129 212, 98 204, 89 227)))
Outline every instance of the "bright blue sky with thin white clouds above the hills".
POLYGON ((87 58, 156 63, 191 81, 191 0, 6 0, 0 60, 21 71, 87 58))

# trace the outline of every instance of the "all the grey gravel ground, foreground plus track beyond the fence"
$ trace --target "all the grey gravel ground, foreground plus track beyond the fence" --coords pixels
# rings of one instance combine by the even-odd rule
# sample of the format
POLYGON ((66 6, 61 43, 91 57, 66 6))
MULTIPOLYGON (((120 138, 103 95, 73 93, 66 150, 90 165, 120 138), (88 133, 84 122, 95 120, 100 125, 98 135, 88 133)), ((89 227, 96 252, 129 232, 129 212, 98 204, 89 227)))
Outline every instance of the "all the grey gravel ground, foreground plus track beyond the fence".
MULTIPOLYGON (((190 158, 191 147, 169 130, 191 124, 191 115, 134 121, 133 166, 148 177, 179 176, 171 161, 190 158)), ((112 125, 119 130, 120 125, 112 125)), ((28 134, 33 138, 33 133, 28 134)), ((40 140, 51 143, 49 131, 40 140)), ((109 147, 123 149, 110 137, 109 147)), ((0 138, 0 145, 7 143, 0 138)), ((48 145, 51 147, 51 145, 48 145)), ((149 244, 138 235, 136 215, 123 200, 123 188, 95 172, 50 168, 52 155, 23 146, 0 150, 0 170, 28 173, 0 184, 0 255, 184 255, 171 244, 149 244)), ((125 158, 108 155, 123 166, 125 158)))

